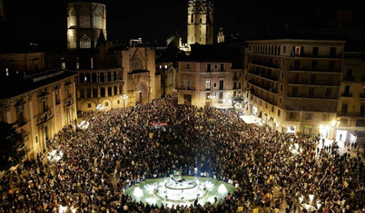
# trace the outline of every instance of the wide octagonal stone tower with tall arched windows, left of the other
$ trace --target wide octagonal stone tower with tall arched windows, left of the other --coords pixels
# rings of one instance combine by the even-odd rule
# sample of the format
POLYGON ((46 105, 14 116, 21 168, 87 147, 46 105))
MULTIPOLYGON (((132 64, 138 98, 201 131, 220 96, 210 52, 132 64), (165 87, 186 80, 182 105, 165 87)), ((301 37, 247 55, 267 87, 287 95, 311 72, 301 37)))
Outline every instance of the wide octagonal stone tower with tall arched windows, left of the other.
POLYGON ((94 49, 99 37, 104 37, 106 40, 105 5, 91 2, 69 3, 67 48, 94 49), (101 33, 103 33, 102 36, 101 33))

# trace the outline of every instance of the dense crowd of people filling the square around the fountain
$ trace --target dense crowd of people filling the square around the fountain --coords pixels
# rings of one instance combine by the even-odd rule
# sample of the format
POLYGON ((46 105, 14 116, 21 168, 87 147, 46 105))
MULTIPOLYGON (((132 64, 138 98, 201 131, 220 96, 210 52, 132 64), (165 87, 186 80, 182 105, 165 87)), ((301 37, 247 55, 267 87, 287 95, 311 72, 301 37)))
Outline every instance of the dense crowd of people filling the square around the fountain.
POLYGON ((15 170, 0 180, 0 212, 274 212, 283 202, 286 212, 365 211, 362 157, 319 138, 265 131, 235 111, 179 105, 174 95, 85 115, 87 129, 66 126, 48 141, 57 160, 39 155, 26 175, 15 170), (174 170, 236 189, 214 203, 173 207, 123 193, 174 170))

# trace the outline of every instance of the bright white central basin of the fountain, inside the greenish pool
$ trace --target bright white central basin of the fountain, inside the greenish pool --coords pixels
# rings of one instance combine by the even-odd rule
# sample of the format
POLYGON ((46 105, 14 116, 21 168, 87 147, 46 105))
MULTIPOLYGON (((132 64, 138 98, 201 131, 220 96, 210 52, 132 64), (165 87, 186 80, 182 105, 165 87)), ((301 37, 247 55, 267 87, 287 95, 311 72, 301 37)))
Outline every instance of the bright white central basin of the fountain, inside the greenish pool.
POLYGON ((209 181, 203 183, 199 179, 168 178, 160 185, 149 186, 153 193, 164 201, 186 202, 196 198, 203 198, 209 191, 212 184, 209 181))

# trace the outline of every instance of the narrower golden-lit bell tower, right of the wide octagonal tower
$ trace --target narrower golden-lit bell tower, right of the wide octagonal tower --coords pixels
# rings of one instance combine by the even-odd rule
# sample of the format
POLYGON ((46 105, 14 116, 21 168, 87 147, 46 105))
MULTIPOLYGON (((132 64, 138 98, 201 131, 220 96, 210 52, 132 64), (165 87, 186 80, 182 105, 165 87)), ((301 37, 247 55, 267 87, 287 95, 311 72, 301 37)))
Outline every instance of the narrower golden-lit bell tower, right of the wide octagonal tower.
POLYGON ((187 44, 212 44, 213 4, 209 0, 190 0, 188 3, 187 44))

